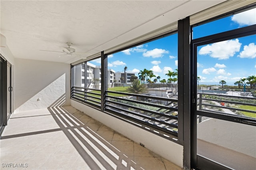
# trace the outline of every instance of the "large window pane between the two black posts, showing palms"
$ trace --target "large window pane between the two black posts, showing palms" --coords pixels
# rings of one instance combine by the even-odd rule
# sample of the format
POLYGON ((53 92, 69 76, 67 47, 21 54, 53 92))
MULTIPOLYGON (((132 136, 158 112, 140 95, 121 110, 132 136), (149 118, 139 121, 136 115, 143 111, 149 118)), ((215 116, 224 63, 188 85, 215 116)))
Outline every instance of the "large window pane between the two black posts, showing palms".
POLYGON ((108 55, 108 96, 107 109, 177 135, 178 34, 108 55))

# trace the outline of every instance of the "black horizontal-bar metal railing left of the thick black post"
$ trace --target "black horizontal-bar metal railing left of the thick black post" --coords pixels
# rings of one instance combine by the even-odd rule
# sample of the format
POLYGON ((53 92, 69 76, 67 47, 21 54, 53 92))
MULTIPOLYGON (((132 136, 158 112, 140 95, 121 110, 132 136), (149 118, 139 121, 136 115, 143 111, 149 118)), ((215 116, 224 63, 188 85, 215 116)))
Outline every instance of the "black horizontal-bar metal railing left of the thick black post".
MULTIPOLYGON (((72 87, 71 98, 100 108, 100 90, 72 87)), ((178 136, 178 99, 106 91, 104 111, 162 134, 178 136)))

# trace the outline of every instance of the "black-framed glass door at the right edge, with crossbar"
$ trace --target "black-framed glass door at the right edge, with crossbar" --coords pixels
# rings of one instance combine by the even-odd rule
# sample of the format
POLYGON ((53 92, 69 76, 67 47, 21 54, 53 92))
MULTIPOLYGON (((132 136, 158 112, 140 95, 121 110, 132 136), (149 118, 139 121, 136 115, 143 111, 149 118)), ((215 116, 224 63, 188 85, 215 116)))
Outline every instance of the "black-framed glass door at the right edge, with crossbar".
POLYGON ((255 44, 256 25, 193 41, 194 168, 255 170, 255 44))

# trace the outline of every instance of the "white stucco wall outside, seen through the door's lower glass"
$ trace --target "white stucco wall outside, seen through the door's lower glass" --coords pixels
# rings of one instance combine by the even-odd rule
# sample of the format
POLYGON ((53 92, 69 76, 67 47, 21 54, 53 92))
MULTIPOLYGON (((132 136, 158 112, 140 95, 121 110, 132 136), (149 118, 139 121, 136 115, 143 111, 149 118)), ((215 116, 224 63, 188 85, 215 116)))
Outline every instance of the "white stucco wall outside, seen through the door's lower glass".
POLYGON ((197 138, 256 158, 256 127, 208 119, 197 124, 197 138))

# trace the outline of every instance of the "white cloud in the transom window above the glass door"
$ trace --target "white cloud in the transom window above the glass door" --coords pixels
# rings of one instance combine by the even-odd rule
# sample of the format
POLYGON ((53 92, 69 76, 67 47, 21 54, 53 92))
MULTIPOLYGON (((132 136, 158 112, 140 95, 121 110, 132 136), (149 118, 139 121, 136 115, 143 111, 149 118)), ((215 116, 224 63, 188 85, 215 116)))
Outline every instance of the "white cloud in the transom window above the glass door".
POLYGON ((238 23, 239 26, 249 26, 256 24, 256 8, 235 14, 231 20, 238 23))

